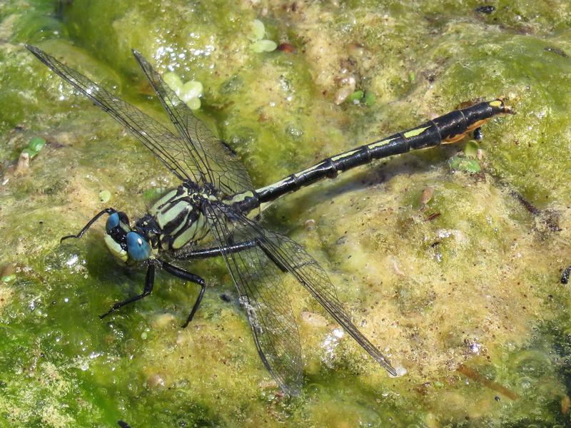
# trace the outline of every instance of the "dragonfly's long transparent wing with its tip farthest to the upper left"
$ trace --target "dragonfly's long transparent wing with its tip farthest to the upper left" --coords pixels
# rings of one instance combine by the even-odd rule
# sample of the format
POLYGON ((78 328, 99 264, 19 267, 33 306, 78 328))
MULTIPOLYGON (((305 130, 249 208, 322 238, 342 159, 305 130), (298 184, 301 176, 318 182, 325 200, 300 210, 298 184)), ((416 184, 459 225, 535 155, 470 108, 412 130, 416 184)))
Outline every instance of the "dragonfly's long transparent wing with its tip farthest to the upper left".
POLYGON ((51 68, 66 81, 89 97, 101 110, 121 123, 146 148, 159 158, 181 181, 193 180, 198 183, 200 170, 191 156, 188 156, 186 143, 174 136, 165 126, 155 121, 130 103, 106 91, 94 81, 75 71, 53 56, 35 46, 26 45, 41 62, 51 68))

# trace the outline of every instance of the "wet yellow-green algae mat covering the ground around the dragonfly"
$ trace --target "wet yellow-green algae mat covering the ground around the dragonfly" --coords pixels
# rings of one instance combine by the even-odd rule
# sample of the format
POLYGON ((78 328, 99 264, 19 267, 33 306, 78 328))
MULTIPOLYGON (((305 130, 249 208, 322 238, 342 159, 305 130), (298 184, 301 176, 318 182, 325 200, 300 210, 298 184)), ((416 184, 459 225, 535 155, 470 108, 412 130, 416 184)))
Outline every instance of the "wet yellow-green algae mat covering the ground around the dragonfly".
MULTIPOLYGON (((0 424, 570 423, 570 300, 558 283, 570 263, 571 63, 557 54, 571 53, 565 2, 497 1, 489 15, 475 12, 477 1, 290 3, 0 6, 0 269, 14 267, 0 282, 0 424), (295 53, 251 52, 255 19, 295 53), (141 290, 143 273, 113 262, 101 226, 59 238, 103 208, 102 190, 133 219, 176 180, 24 42, 155 117, 130 49, 200 81, 199 114, 257 185, 463 101, 506 96, 517 114, 482 128, 478 174, 450 172, 460 143, 373 163, 266 210, 264 224, 305 245, 355 323, 406 374, 388 378, 346 335, 324 347, 337 326, 300 316, 305 387, 282 397, 221 260, 192 265, 208 290, 186 330, 198 290, 160 274, 153 296, 101 322, 141 290), (335 106, 348 76, 363 102, 335 106), (16 173, 36 136, 46 145, 16 173), (558 232, 545 226, 551 211, 558 232)), ((325 315, 293 281, 288 289, 296 314, 325 315)))

